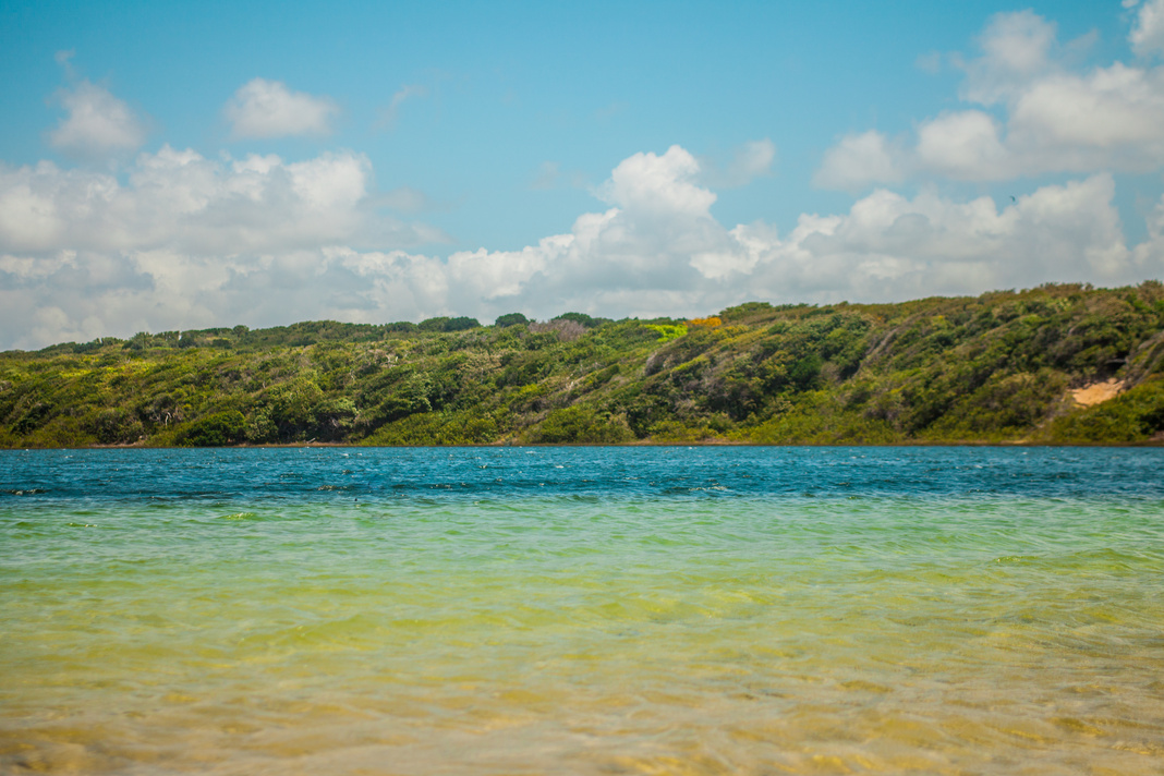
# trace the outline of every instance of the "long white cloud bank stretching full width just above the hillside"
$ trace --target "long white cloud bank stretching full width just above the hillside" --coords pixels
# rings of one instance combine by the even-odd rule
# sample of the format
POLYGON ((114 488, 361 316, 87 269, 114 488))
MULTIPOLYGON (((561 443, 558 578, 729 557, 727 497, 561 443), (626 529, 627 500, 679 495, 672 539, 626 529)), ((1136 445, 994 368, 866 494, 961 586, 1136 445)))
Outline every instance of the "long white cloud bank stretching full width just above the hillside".
POLYGON ((434 239, 425 227, 381 226, 369 179, 352 154, 212 162, 169 148, 139 157, 125 184, 49 163, 0 169, 0 347, 325 318, 696 314, 743 299, 894 300, 1164 270, 1164 200, 1129 248, 1106 173, 1002 209, 876 190, 781 235, 719 223, 700 162, 673 145, 619 163, 595 192, 608 207, 568 232, 448 256, 410 247, 434 239))

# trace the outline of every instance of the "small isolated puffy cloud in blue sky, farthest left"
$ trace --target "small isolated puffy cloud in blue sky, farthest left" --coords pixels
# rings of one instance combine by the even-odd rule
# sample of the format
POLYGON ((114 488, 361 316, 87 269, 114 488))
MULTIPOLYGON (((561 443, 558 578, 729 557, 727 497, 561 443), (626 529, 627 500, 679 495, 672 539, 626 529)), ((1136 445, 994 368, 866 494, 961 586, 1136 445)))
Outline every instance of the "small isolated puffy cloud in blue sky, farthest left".
MULTIPOLYGON (((62 62, 68 65, 68 57, 62 62)), ((133 152, 146 142, 144 124, 104 86, 81 80, 57 92, 56 99, 66 115, 49 133, 49 143, 70 156, 100 161, 133 152)))

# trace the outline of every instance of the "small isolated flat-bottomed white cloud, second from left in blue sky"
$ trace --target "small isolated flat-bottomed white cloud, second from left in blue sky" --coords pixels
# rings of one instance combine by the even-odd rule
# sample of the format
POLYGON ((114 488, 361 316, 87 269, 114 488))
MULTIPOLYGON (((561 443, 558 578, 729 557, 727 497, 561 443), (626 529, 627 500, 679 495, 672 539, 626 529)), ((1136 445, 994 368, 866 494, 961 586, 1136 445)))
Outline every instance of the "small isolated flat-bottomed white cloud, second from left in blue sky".
POLYGON ((240 86, 223 108, 235 138, 327 135, 338 113, 326 97, 292 92, 282 81, 264 78, 240 86))

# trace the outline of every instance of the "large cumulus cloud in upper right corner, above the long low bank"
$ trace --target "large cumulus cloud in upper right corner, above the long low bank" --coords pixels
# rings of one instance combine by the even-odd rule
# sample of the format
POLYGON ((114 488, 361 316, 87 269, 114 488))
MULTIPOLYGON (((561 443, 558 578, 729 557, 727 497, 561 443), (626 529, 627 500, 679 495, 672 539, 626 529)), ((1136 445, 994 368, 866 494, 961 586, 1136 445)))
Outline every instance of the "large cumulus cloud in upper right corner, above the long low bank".
MULTIPOLYGON (((1164 0, 1140 8, 1130 42, 1155 50, 1164 0)), ((825 152, 815 183, 852 190, 903 177, 1008 180, 1048 173, 1148 172, 1164 168, 1164 67, 1121 62, 1067 67, 1055 24, 1030 10, 999 14, 958 60, 959 97, 980 108, 918 122, 913 143, 890 149, 870 131, 825 152), (984 109, 985 108, 985 109, 984 109)))

